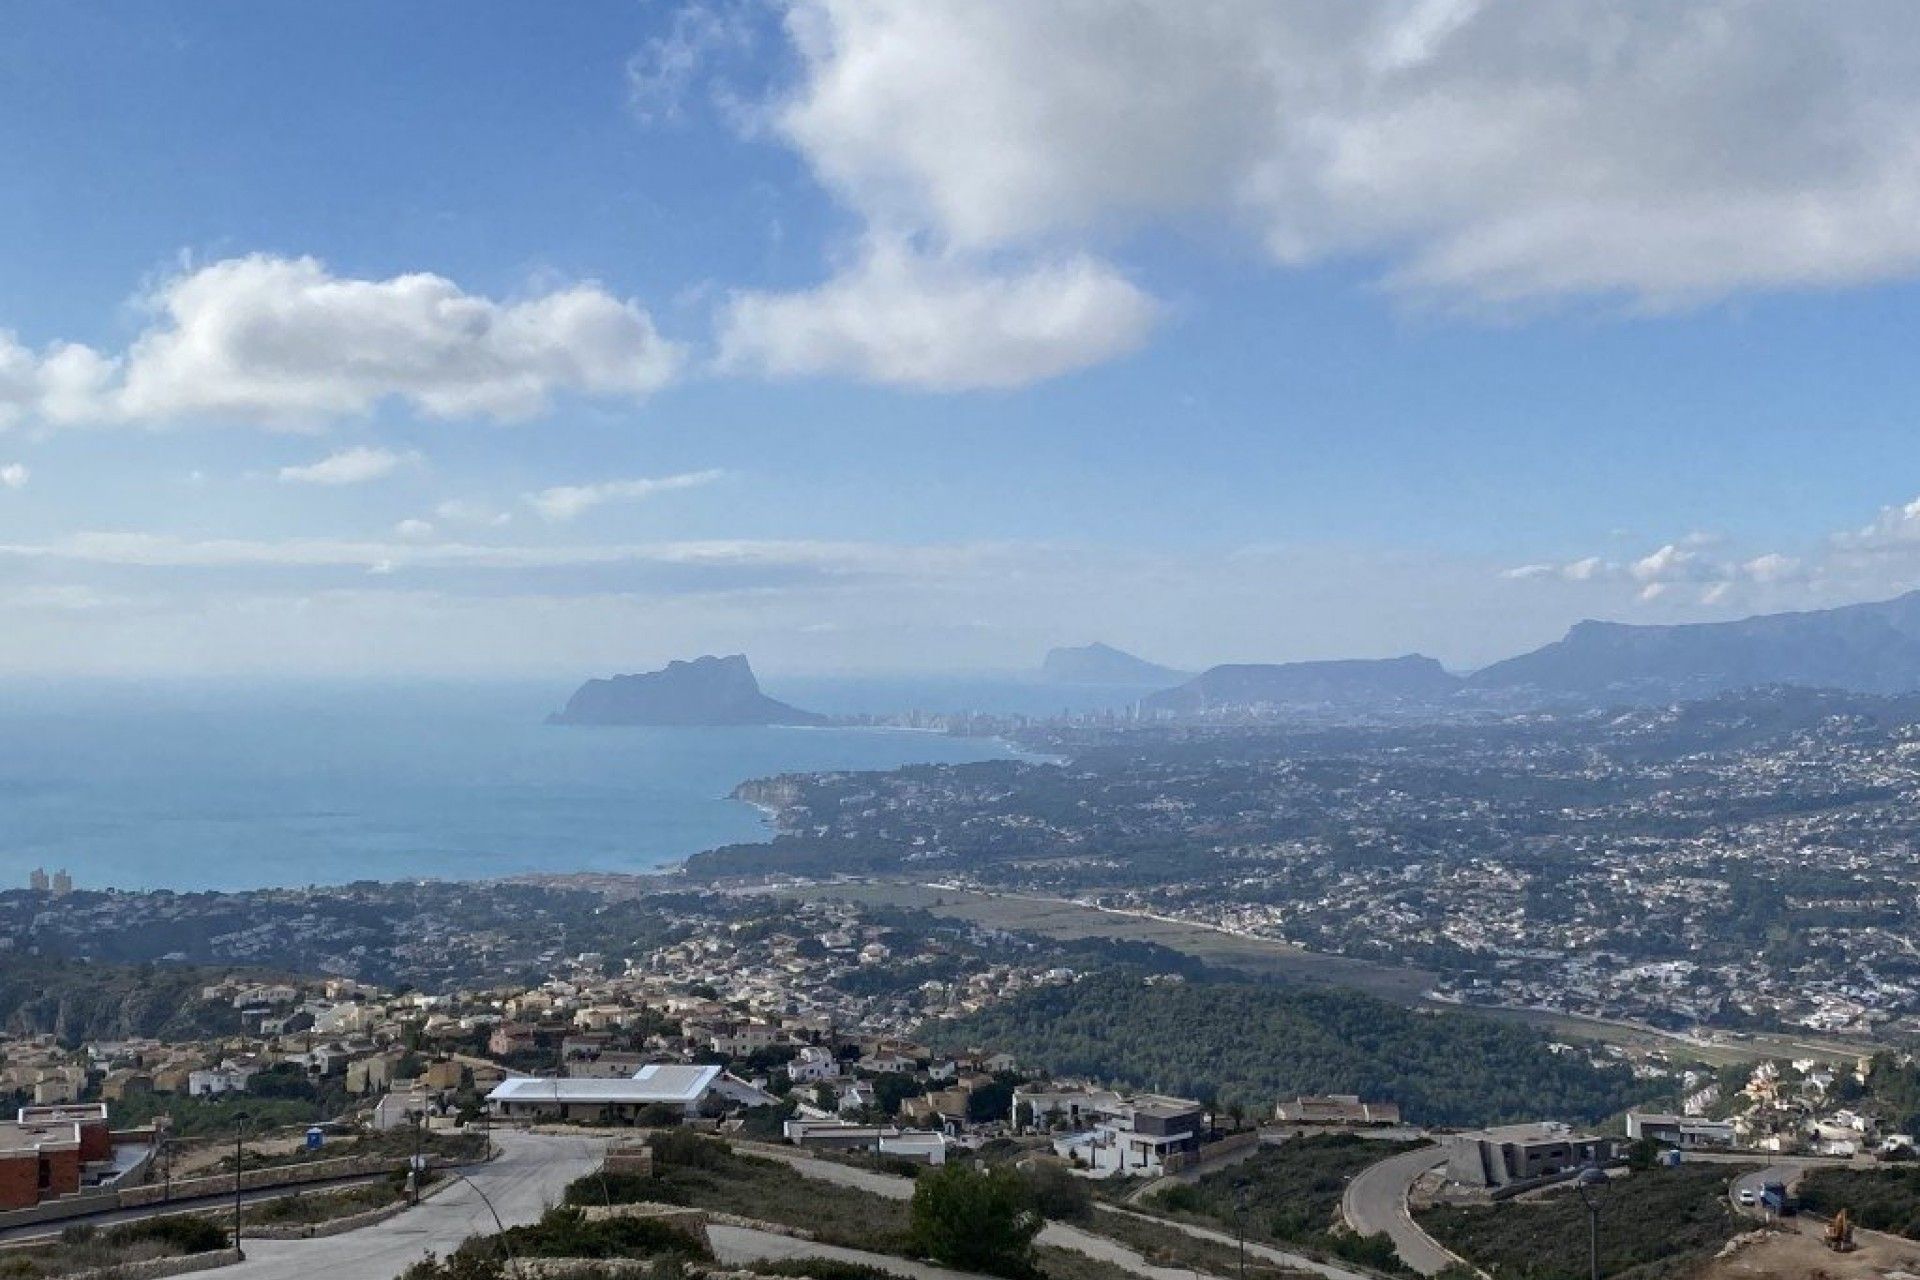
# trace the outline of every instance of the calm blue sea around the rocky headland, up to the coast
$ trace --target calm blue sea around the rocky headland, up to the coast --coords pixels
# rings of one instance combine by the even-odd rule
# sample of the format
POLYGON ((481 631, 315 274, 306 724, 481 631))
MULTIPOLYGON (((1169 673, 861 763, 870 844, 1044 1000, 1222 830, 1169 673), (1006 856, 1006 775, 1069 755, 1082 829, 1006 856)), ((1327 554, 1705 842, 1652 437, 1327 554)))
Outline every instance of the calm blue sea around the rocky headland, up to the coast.
MULTIPOLYGON (((1050 714, 1139 691, 1014 677, 770 681, 828 714, 1050 714)), ((580 729, 568 681, 0 685, 0 887, 238 890, 653 871, 766 841, 728 793, 814 770, 1018 754, 912 729, 580 729)))

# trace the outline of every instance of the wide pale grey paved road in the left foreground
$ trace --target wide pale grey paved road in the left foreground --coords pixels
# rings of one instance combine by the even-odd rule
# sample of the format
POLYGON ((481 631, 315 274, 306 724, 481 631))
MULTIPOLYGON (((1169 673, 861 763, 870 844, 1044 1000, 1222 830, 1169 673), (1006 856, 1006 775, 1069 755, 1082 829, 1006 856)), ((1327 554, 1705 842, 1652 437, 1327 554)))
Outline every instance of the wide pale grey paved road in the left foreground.
POLYGON ((444 1257, 468 1236, 492 1232, 493 1213, 486 1201, 507 1226, 534 1222, 559 1203, 568 1182, 597 1169, 605 1153, 597 1138, 495 1130, 493 1140, 501 1155, 468 1169, 470 1182, 457 1182, 417 1209, 357 1232, 248 1242, 246 1261, 223 1267, 221 1280, 394 1280, 428 1251, 444 1257))

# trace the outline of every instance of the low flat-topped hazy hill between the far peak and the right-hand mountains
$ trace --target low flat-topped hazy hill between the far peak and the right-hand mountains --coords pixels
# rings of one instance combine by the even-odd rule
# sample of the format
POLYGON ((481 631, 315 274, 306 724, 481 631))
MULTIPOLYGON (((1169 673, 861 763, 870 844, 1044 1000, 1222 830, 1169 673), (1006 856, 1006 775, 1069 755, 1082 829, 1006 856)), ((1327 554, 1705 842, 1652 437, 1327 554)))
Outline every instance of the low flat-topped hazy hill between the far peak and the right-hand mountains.
POLYGON ((1185 685, 1150 695, 1146 712, 1194 716, 1261 706, 1388 706, 1434 702, 1461 679, 1434 658, 1340 658, 1332 662, 1250 662, 1215 666, 1185 685))

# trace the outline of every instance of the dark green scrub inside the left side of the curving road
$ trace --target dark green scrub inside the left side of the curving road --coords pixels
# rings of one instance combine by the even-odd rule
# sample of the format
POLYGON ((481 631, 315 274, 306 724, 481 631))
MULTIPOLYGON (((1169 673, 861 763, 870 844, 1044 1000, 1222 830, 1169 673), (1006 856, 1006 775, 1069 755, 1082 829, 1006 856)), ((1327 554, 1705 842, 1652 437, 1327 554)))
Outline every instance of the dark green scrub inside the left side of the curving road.
MULTIPOLYGON (((1413 1146, 1375 1142, 1357 1134, 1294 1138, 1277 1148, 1261 1148, 1198 1182, 1156 1192, 1148 1203, 1164 1213, 1196 1217, 1215 1230, 1233 1232, 1244 1226, 1248 1240, 1308 1245, 1380 1267, 1384 1242, 1334 1234, 1331 1228, 1340 1213, 1348 1180, 1367 1165, 1413 1146)), ((1384 1249, 1384 1257, 1392 1267, 1392 1247, 1384 1249)))

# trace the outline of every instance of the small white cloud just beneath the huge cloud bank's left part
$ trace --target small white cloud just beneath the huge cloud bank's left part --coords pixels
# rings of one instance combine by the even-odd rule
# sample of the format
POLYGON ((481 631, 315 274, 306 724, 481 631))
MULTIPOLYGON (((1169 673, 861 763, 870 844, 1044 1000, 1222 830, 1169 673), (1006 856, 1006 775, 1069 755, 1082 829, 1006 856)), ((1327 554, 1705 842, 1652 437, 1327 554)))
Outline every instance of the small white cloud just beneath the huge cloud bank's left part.
POLYGON ((1133 351, 1154 315, 1146 294, 1092 257, 1000 271, 874 244, 820 288, 735 294, 720 365, 931 391, 1018 388, 1133 351))

